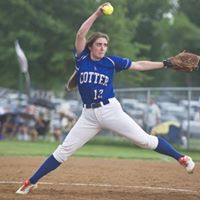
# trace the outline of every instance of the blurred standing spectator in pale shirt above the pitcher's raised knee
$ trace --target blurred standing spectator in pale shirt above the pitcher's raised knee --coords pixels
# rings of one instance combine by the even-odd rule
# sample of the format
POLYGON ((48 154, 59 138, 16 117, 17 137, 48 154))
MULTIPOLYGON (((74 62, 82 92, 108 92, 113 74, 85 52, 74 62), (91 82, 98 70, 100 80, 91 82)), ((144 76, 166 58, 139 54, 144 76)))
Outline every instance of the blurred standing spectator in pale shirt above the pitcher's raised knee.
POLYGON ((147 133, 150 133, 152 128, 160 123, 160 108, 156 104, 155 98, 150 97, 148 106, 144 110, 143 125, 147 133))

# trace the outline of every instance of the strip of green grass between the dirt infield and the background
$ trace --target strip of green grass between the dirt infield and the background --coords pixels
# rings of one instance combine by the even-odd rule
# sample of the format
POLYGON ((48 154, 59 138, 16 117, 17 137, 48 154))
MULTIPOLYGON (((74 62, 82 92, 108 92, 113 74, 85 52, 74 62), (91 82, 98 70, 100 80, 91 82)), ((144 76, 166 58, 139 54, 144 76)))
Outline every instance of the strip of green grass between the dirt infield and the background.
MULTIPOLYGON (((0 141, 0 156, 48 156, 58 145, 59 143, 48 141, 22 142, 3 140, 0 141)), ((196 161, 200 161, 199 151, 185 152, 182 149, 181 152, 192 156, 196 161)), ((73 156, 147 160, 171 159, 154 151, 138 148, 123 139, 117 138, 113 140, 113 137, 102 136, 90 141, 73 156)))

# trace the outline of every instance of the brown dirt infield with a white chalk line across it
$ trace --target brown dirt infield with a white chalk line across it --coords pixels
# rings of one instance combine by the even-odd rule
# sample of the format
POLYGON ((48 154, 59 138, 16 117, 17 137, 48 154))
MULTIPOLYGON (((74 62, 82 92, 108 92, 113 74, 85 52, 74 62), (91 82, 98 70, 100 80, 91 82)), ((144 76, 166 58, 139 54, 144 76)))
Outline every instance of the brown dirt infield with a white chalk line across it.
POLYGON ((71 158, 16 195, 44 157, 0 157, 1 200, 199 200, 200 164, 188 175, 176 162, 71 158))

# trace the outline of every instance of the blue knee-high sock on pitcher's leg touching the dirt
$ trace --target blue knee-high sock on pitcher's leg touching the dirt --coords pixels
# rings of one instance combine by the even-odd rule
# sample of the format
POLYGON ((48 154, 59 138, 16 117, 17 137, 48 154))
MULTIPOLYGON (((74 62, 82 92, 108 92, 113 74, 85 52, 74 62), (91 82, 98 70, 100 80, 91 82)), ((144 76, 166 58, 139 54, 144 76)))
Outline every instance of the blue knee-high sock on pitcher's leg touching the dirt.
POLYGON ((29 179, 32 184, 38 182, 40 178, 56 169, 61 163, 59 163, 53 155, 49 156, 46 161, 40 166, 40 168, 35 172, 35 174, 29 179))

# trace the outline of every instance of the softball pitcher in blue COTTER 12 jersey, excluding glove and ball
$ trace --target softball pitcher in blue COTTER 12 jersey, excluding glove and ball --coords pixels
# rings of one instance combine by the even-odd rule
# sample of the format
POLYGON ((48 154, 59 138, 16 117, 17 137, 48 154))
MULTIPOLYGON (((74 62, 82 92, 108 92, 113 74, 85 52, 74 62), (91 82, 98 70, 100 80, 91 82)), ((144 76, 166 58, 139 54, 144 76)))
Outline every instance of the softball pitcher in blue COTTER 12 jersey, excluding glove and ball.
POLYGON ((76 35, 76 69, 70 79, 69 87, 74 87, 74 84, 78 86, 83 101, 82 114, 64 142, 57 147, 33 176, 24 182, 16 191, 17 194, 27 194, 36 188, 36 183, 40 178, 60 166, 101 129, 112 130, 142 148, 152 149, 175 158, 188 173, 192 173, 194 170, 195 164, 189 156, 177 152, 164 139, 146 133, 123 111, 119 101, 115 98, 113 89, 115 73, 123 70, 160 69, 164 68, 164 64, 152 61, 133 62, 128 58, 106 55, 109 37, 104 33, 96 32, 86 40, 86 35, 93 23, 103 15, 103 5, 82 24, 76 35))

